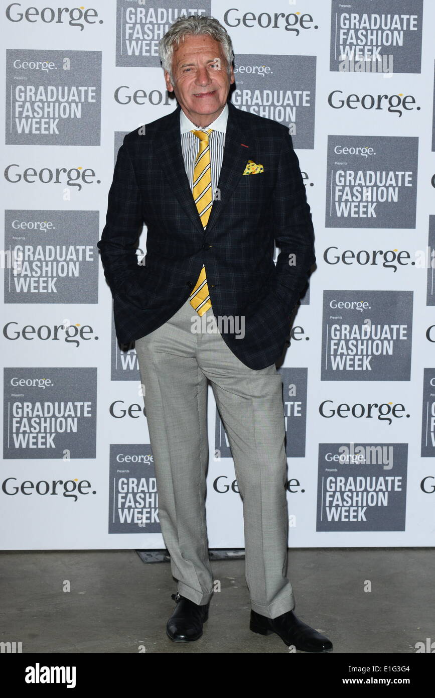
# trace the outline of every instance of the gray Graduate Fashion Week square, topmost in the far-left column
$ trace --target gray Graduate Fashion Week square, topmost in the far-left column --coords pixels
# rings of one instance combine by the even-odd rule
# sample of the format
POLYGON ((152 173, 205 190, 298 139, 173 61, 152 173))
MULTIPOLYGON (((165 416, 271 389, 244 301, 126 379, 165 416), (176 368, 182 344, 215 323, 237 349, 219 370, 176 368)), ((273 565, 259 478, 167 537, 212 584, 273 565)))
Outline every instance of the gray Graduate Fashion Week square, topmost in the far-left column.
POLYGON ((100 51, 6 51, 7 145, 100 145, 100 124, 100 51))

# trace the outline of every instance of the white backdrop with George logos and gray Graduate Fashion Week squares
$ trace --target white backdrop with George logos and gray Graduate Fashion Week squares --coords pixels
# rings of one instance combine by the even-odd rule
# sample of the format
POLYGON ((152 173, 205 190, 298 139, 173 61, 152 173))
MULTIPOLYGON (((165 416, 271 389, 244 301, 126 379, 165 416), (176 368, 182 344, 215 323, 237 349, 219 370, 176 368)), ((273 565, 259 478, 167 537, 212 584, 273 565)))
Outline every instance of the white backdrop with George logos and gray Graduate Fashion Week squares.
MULTIPOLYGON (((289 547, 432 546, 435 3, 2 0, 1 548, 164 547, 96 244, 123 136, 175 108, 158 43, 190 14, 233 40, 234 105, 290 129, 312 209, 279 369, 289 547)), ((209 545, 243 548, 211 389, 208 437, 209 545)))

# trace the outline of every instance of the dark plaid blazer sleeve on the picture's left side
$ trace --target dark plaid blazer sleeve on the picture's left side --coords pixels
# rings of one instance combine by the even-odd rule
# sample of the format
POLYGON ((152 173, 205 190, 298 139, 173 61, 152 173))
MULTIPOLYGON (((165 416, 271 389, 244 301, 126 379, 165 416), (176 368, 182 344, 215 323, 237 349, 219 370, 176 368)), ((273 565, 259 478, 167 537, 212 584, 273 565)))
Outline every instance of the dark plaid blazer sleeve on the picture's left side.
POLYGON ((137 287, 141 267, 136 244, 143 223, 139 186, 124 138, 109 189, 106 224, 97 243, 112 294, 137 287))

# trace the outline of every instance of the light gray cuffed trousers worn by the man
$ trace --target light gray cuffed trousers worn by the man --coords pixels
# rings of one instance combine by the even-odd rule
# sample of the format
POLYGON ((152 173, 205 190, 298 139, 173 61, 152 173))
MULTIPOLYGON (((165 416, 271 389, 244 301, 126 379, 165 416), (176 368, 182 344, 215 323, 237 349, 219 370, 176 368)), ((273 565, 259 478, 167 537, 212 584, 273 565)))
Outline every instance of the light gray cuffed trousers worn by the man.
POLYGON ((295 607, 287 578, 282 378, 275 364, 259 371, 245 366, 219 332, 193 332, 198 317, 187 300, 164 325, 136 340, 171 572, 182 596, 200 605, 211 600, 205 508, 210 380, 243 498, 251 607, 276 618, 295 607))

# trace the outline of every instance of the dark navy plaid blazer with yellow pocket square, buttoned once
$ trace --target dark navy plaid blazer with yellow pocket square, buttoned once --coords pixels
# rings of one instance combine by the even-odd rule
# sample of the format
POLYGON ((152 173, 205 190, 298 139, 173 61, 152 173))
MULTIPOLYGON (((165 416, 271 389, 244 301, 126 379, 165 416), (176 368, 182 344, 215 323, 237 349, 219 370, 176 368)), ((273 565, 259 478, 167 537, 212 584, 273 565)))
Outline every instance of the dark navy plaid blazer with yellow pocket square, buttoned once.
POLYGON ((125 136, 98 248, 120 343, 169 320, 205 263, 213 314, 217 320, 242 316, 245 323, 243 338, 220 325, 224 341, 245 365, 263 369, 284 350, 291 311, 315 261, 314 232, 288 128, 230 102, 228 108, 217 198, 206 231, 185 173, 178 106, 147 124, 144 134, 139 128, 125 136), (243 175, 248 160, 263 165, 264 172, 243 175), (143 223, 146 256, 138 265, 143 223), (276 267, 274 240, 280 248, 276 267))

